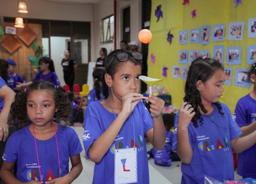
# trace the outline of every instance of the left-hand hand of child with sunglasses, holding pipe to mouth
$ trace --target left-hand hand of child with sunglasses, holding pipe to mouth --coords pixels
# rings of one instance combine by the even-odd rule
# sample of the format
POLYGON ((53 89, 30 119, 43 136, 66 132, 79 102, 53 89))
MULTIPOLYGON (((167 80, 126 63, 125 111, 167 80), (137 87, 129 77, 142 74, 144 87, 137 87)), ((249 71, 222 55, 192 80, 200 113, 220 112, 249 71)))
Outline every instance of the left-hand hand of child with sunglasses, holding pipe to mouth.
POLYGON ((137 93, 130 93, 122 98, 122 109, 120 111, 126 113, 128 116, 132 113, 134 107, 142 100, 143 95, 137 93))

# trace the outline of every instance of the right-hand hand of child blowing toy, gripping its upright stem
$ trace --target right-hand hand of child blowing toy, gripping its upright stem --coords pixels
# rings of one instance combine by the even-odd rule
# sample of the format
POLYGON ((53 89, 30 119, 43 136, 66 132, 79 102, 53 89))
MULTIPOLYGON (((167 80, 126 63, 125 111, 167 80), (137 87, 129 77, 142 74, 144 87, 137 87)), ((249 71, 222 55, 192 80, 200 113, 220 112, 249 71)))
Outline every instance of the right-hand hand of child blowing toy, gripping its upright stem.
POLYGON ((150 104, 150 113, 152 118, 157 118, 159 116, 162 116, 162 110, 164 108, 164 101, 160 99, 159 97, 155 97, 153 95, 149 95, 147 98, 148 102, 151 102, 150 104))

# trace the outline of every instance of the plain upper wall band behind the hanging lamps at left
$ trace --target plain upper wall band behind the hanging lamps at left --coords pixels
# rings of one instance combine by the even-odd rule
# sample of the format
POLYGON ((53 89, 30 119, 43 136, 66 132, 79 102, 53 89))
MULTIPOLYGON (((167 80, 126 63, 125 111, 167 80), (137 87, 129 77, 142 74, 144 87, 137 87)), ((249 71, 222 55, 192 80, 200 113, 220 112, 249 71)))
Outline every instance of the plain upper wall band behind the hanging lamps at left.
POLYGON ((26 0, 28 13, 18 13, 17 0, 0 0, 0 16, 49 20, 92 21, 93 5, 57 4, 41 0, 26 0))

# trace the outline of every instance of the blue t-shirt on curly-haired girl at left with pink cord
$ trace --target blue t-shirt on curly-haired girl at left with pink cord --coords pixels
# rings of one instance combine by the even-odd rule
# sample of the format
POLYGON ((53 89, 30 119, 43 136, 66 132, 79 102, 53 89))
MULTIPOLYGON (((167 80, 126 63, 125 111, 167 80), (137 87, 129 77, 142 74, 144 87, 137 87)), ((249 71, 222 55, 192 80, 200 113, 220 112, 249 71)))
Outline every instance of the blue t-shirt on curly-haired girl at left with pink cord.
MULTIPOLYGON (((70 127, 62 127, 58 124, 56 132, 59 159, 60 176, 69 173, 69 157, 79 154, 82 146, 78 135, 70 127)), ((49 140, 36 140, 38 158, 42 180, 48 181, 58 177, 59 164, 55 136, 49 140)), ((40 180, 38 161, 35 148, 34 136, 29 131, 29 125, 14 132, 7 140, 5 162, 17 162, 17 179, 22 182, 40 180)))

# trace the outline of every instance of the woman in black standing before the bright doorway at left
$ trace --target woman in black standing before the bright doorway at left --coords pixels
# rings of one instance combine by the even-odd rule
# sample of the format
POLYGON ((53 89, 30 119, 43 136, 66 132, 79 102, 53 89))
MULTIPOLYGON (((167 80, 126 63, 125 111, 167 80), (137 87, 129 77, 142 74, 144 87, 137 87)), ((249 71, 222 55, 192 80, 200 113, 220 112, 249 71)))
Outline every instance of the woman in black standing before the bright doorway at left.
POLYGON ((75 70, 77 69, 76 61, 70 58, 69 50, 64 51, 65 58, 62 59, 61 65, 63 67, 64 81, 71 91, 73 91, 73 85, 75 81, 75 70))

